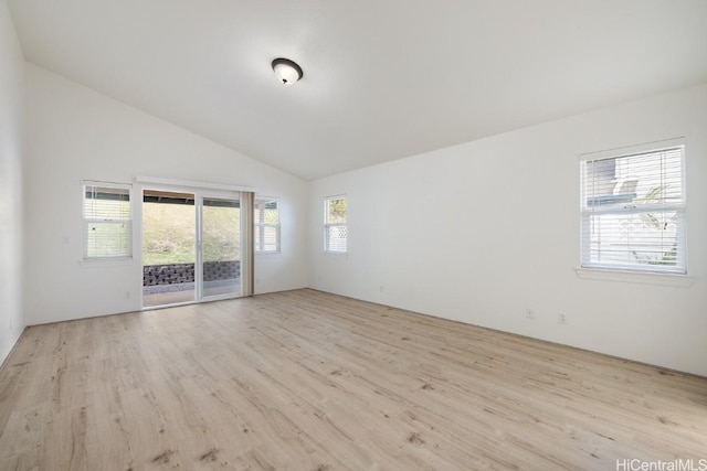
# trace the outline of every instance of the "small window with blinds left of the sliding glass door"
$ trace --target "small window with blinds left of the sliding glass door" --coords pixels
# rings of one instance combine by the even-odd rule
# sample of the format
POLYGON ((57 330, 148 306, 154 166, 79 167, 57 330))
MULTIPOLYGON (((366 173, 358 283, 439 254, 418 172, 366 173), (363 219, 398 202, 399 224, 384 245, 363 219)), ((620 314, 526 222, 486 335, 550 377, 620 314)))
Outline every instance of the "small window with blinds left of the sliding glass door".
POLYGON ((131 257, 130 186, 84 182, 83 194, 84 259, 131 257))

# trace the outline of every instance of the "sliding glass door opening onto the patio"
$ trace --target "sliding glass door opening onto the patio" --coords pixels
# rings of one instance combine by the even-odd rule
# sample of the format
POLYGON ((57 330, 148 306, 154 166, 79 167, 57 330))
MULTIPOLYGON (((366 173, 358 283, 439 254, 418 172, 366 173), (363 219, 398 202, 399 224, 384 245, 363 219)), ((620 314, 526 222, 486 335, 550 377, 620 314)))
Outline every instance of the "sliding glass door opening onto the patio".
POLYGON ((143 191, 143 306, 242 296, 239 192, 143 191))

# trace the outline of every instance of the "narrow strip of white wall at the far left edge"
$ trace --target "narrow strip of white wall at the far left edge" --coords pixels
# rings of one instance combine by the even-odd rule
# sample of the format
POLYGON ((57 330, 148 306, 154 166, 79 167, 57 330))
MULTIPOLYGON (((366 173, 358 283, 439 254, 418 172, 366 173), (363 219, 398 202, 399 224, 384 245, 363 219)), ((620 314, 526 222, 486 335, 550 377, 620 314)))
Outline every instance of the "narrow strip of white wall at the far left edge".
POLYGON ((0 1, 0 363, 24 329, 22 311, 22 160, 24 58, 0 1))

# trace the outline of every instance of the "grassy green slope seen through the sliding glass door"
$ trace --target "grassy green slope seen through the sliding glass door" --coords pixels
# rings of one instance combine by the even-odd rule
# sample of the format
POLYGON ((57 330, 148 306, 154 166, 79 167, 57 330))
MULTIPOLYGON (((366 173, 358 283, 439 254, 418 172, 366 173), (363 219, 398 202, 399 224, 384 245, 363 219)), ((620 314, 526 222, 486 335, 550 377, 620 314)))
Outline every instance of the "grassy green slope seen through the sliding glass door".
MULTIPOLYGON (((238 260, 241 227, 238 207, 204 206, 204 261, 238 260)), ((143 264, 194 263, 194 206, 143 204, 143 264)))

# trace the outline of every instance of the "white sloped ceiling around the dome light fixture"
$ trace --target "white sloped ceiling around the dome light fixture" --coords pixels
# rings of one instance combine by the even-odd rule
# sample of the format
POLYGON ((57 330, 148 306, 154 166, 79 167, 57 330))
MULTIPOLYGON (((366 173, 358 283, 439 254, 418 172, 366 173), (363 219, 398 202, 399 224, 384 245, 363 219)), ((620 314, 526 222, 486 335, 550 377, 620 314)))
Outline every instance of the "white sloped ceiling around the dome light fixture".
POLYGON ((304 179, 707 82, 707 0, 8 3, 28 61, 304 179))

